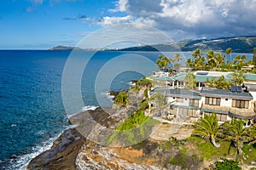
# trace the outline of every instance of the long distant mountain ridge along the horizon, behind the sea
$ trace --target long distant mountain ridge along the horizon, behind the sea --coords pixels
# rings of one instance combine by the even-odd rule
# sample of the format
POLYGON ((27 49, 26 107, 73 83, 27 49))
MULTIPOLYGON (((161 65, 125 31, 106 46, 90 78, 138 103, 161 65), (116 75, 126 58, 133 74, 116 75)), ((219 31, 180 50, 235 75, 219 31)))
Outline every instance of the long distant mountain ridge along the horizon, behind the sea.
POLYGON ((49 50, 95 50, 95 51, 166 51, 166 52, 191 52, 196 48, 203 51, 213 50, 224 52, 226 48, 232 48, 233 53, 253 53, 253 48, 256 48, 256 36, 241 36, 241 37, 218 37, 211 39, 185 39, 177 42, 165 42, 153 45, 145 45, 130 48, 77 48, 67 46, 56 46, 49 50))

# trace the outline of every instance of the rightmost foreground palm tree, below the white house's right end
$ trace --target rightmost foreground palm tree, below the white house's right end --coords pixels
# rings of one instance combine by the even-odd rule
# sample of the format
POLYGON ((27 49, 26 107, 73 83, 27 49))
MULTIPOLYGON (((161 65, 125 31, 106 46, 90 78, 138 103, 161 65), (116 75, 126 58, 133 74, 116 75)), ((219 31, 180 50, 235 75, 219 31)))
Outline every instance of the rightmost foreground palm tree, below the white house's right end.
POLYGON ((235 144, 236 154, 238 152, 239 155, 243 153, 241 150, 243 144, 252 141, 256 134, 255 128, 244 127, 244 123, 241 119, 233 118, 231 122, 224 122, 221 127, 223 138, 235 144))

